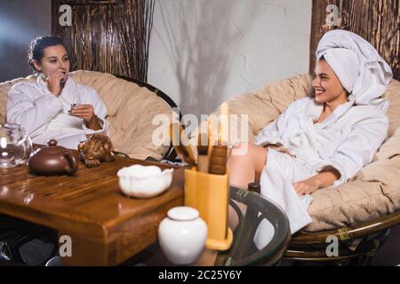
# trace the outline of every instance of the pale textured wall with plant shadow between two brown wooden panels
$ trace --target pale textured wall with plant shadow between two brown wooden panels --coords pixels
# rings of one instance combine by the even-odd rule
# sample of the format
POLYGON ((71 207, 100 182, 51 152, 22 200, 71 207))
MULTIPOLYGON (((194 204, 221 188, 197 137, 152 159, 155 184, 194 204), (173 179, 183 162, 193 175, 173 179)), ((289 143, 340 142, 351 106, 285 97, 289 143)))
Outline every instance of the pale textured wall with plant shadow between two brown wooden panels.
POLYGON ((184 114, 307 73, 311 0, 156 0, 148 82, 184 114))

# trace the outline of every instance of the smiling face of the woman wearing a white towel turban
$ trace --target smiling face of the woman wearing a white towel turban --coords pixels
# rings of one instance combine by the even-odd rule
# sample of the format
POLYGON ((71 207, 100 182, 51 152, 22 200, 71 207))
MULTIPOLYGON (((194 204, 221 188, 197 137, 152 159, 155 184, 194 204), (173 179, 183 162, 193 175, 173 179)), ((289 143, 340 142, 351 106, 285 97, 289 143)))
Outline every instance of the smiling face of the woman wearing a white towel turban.
POLYGON ((318 103, 345 103, 348 101, 348 92, 343 88, 338 77, 324 59, 316 62, 313 87, 316 91, 316 101, 318 103))

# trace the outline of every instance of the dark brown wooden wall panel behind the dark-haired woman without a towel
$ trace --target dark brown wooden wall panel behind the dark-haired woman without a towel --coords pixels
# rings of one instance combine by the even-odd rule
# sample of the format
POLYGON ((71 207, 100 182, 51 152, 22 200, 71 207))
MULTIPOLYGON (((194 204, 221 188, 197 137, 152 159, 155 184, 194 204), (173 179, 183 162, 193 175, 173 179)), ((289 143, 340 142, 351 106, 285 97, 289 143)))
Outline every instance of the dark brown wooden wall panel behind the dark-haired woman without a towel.
POLYGON ((154 0, 52 0, 52 34, 64 39, 71 70, 84 69, 147 81, 154 0), (61 27, 68 4, 72 25, 61 27))

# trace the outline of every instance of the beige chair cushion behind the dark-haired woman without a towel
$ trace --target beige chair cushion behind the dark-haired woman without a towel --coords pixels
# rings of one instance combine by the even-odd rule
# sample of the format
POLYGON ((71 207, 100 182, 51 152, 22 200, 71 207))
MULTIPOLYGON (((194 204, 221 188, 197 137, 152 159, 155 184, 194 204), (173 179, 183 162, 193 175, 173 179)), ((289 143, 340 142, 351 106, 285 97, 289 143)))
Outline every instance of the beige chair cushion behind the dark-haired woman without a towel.
MULTIPOLYGON (((152 135, 160 125, 152 125, 156 114, 166 114, 172 119, 172 108, 156 93, 114 75, 79 70, 70 73, 76 83, 89 85, 107 106, 110 138, 116 151, 132 158, 151 156, 160 160, 169 146, 156 146, 152 135)), ((4 122, 8 91, 13 84, 34 81, 33 75, 0 83, 0 123, 4 122)), ((168 127, 168 125, 166 125, 168 127)), ((167 129, 166 129, 167 130, 167 129)), ((166 132, 168 133, 168 131, 166 132)))

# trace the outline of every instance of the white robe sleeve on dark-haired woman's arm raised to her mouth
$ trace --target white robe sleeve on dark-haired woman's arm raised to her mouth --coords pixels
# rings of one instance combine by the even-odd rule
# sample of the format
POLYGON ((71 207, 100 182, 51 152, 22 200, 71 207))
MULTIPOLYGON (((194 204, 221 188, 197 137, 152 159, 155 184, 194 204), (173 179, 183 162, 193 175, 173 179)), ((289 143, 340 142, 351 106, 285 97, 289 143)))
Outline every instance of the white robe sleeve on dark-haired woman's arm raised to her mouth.
POLYGON ((48 92, 37 98, 25 83, 12 86, 7 99, 7 122, 18 123, 30 135, 63 109, 60 100, 48 92))

